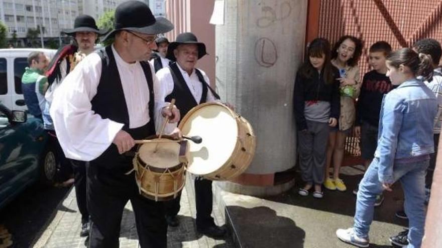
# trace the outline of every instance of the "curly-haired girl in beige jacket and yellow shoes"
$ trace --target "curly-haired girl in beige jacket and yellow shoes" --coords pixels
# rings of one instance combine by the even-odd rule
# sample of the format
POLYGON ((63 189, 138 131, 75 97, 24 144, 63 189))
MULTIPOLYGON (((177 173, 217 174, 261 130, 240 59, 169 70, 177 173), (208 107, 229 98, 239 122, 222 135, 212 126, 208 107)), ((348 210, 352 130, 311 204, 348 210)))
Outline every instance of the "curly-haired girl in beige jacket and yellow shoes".
POLYGON ((338 125, 331 128, 325 168, 324 187, 329 190, 346 191, 347 187, 339 178, 339 171, 344 158, 346 137, 351 133, 355 122, 355 99, 359 96, 361 80, 358 61, 362 53, 361 40, 354 36, 343 36, 332 50, 332 64, 339 69, 341 91, 341 115, 338 125), (333 179, 329 177, 328 168, 334 165, 333 179))

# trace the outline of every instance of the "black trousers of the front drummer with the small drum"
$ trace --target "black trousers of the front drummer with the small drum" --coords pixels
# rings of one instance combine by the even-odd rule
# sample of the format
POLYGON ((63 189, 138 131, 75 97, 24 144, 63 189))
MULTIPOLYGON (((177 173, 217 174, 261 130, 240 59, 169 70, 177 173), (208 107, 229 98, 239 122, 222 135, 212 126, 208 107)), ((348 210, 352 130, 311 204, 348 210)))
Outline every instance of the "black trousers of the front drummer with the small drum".
POLYGON ((91 218, 89 247, 118 248, 123 210, 131 201, 142 248, 166 247, 167 224, 162 202, 140 195, 133 167, 105 168, 90 162, 87 167, 87 207, 91 218))

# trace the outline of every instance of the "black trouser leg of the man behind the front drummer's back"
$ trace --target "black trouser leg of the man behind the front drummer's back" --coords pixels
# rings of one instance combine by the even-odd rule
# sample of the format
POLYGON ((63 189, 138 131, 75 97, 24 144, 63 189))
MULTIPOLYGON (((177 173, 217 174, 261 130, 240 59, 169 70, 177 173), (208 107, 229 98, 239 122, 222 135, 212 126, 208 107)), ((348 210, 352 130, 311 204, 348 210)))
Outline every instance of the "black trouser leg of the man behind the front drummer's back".
POLYGON ((81 213, 81 223, 89 221, 89 211, 87 211, 86 201, 86 163, 84 161, 70 160, 74 170, 74 187, 77 198, 78 210, 81 213))

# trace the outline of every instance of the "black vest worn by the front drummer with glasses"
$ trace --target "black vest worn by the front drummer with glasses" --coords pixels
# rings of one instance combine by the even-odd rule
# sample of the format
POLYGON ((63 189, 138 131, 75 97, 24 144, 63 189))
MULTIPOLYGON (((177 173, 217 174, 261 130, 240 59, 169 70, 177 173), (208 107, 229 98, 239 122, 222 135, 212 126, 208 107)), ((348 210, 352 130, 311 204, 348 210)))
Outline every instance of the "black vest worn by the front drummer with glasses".
MULTIPOLYGON (((123 92, 123 86, 111 46, 98 51, 101 58, 101 77, 98 83, 97 94, 93 97, 92 110, 103 119, 124 123, 123 130, 134 139, 144 139, 155 134, 154 125, 154 91, 150 66, 147 62, 140 62, 149 87, 149 116, 150 121, 138 128, 129 128, 129 112, 123 92)), ((127 160, 118 153, 117 146, 111 144, 94 162, 106 167, 117 166, 118 161, 127 160)), ((121 163, 120 163, 121 164, 121 163)))

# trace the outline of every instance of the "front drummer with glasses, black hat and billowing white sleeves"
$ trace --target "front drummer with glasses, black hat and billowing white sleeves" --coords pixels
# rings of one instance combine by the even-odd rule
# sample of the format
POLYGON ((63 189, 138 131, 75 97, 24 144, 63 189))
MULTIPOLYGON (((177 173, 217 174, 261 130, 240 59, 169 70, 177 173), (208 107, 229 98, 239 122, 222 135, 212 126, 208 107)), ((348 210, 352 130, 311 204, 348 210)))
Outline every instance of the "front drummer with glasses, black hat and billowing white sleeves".
MULTIPOLYGON (((139 193, 132 160, 135 139, 155 134, 162 117, 179 120, 167 108, 152 66, 157 34, 173 25, 155 19, 149 7, 128 1, 115 11, 112 45, 84 58, 57 90, 51 116, 67 157, 87 161, 87 207, 91 217, 89 247, 119 247, 124 207, 131 201, 141 247, 166 247, 162 202, 139 193), (130 172, 130 173, 128 173, 130 172)), ((174 133, 179 135, 179 130, 174 133)))

